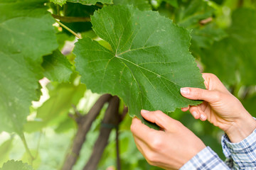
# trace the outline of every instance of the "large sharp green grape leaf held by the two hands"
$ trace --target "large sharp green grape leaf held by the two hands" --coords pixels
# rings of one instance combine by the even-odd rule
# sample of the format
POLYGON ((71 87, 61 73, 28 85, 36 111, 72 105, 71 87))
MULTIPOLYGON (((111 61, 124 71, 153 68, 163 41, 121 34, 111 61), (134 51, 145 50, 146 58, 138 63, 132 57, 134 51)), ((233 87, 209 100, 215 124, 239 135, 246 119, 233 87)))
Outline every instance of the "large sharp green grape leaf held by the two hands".
POLYGON ((90 38, 75 44, 75 65, 88 89, 119 96, 129 107, 129 115, 144 123, 141 109, 169 113, 200 103, 179 92, 183 86, 204 87, 188 52, 188 30, 157 12, 132 6, 103 7, 92 16, 92 26, 112 50, 90 38))

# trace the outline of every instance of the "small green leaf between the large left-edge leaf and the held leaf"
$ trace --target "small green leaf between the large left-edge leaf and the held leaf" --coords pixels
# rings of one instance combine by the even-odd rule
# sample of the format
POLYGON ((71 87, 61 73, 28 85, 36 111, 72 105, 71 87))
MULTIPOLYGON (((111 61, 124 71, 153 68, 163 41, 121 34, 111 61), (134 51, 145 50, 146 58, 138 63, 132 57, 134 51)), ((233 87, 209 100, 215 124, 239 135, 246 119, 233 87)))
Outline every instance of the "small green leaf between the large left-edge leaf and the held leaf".
POLYGON ((68 82, 73 73, 72 65, 59 50, 55 50, 52 55, 44 56, 42 66, 45 69, 45 77, 51 81, 68 82))

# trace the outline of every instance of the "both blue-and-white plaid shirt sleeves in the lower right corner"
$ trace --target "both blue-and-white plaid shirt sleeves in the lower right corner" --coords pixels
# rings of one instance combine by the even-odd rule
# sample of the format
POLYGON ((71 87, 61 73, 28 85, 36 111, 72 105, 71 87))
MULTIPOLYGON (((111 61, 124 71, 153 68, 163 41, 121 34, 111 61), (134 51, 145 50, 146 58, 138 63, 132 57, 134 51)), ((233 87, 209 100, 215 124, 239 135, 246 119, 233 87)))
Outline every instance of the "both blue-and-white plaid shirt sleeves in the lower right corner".
POLYGON ((223 162, 210 147, 206 147, 181 167, 181 170, 225 170, 225 169, 256 169, 256 130, 238 143, 231 143, 227 135, 221 139, 223 162))

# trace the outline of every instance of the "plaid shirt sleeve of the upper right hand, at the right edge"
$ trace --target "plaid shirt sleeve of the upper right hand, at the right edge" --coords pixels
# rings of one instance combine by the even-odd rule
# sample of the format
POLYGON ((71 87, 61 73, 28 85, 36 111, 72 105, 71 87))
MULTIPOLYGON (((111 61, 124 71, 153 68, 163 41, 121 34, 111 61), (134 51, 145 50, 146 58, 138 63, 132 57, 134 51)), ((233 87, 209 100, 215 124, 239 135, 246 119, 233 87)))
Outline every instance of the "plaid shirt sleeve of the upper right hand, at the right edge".
POLYGON ((256 169, 256 130, 238 143, 230 142, 223 135, 221 144, 227 158, 225 163, 232 169, 256 169))

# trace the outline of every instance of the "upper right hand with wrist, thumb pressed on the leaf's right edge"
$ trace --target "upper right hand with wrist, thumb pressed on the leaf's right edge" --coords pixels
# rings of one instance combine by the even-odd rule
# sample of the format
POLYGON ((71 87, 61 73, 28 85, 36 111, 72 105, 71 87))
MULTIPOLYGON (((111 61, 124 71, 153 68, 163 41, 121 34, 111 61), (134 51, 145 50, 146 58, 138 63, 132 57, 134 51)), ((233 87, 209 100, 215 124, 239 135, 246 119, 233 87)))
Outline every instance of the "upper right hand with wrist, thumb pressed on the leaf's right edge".
POLYGON ((203 74, 205 89, 181 88, 181 95, 193 100, 203 100, 198 106, 181 108, 193 117, 208 120, 222 129, 231 142, 240 142, 256 128, 256 121, 242 106, 242 103, 225 88, 214 74, 203 74))

